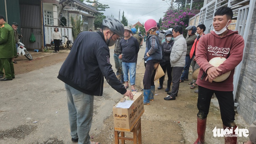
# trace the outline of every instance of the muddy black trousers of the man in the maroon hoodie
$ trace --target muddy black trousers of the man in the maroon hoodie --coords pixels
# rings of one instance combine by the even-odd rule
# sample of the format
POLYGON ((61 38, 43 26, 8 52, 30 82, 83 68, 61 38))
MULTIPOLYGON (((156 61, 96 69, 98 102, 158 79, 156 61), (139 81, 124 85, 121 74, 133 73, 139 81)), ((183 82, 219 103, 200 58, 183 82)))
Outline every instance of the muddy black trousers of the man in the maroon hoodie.
POLYGON ((216 95, 220 105, 222 123, 226 126, 231 126, 230 123, 235 120, 234 98, 232 91, 217 91, 198 86, 197 108, 199 112, 197 116, 201 119, 207 117, 213 94, 216 95))

